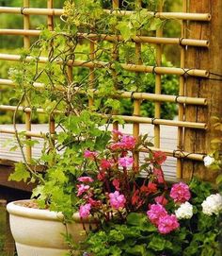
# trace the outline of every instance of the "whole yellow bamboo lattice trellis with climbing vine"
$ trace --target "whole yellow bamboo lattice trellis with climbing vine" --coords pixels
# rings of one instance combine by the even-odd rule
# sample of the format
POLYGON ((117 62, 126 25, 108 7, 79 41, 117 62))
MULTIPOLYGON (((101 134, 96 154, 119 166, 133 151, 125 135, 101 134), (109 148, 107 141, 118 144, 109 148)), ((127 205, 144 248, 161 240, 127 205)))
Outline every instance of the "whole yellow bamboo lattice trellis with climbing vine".
MULTIPOLYGON (((8 15, 18 14, 23 15, 24 17, 24 29, 0 29, 1 35, 13 35, 13 36, 22 36, 24 37, 24 48, 29 48, 30 46, 30 38, 31 37, 39 37, 40 30, 30 29, 30 20, 31 15, 44 15, 47 16, 47 26, 48 29, 54 33, 54 17, 65 15, 63 9, 54 9, 53 0, 47 0, 47 9, 34 9, 30 8, 29 0, 24 0, 24 6, 22 8, 8 8, 8 7, 0 7, 1 13, 8 13, 8 15)), ((119 9, 119 0, 112 1, 112 9, 104 9, 104 11, 108 15, 129 15, 133 11, 123 11, 119 9)), ((141 7, 141 1, 137 1, 137 6, 141 7)), ((186 152, 183 148, 184 143, 184 128, 192 128, 199 130, 206 130, 207 124, 204 122, 191 122, 185 121, 185 108, 189 105, 195 105, 199 108, 205 108, 208 106, 208 99, 205 97, 193 97, 188 96, 185 93, 186 88, 186 79, 189 77, 194 78, 208 78, 210 76, 209 70, 198 69, 194 67, 187 67, 185 65, 186 52, 187 47, 198 47, 208 49, 210 45, 210 41, 206 39, 196 39, 196 38, 187 38, 187 23, 188 22, 196 22, 196 23, 210 23, 212 16, 210 13, 190 13, 188 12, 188 0, 182 1, 182 12, 164 12, 163 11, 163 1, 159 1, 159 7, 157 12, 148 11, 148 15, 151 15, 156 18, 160 18, 163 20, 181 20, 182 23, 182 34, 181 38, 166 38, 163 35, 163 28, 158 28, 156 31, 155 37, 144 36, 137 34, 131 41, 135 43, 135 55, 136 55, 136 63, 135 64, 127 64, 127 63, 119 63, 121 68, 130 72, 134 72, 139 76, 139 73, 151 73, 155 76, 155 93, 137 93, 137 92, 121 92, 119 91, 118 95, 115 95, 119 98, 131 98, 133 100, 134 111, 132 116, 119 115, 118 112, 114 112, 112 118, 122 118, 124 121, 133 124, 133 134, 135 137, 139 136, 139 124, 151 124, 154 128, 154 147, 153 150, 162 150, 166 152, 168 156, 177 158, 177 178, 182 178, 182 159, 189 159, 192 161, 201 162, 205 154, 203 153, 194 153, 194 152, 186 152), (147 66, 142 63, 141 60, 141 47, 142 44, 151 43, 156 47, 156 65, 155 66, 147 66), (181 49, 181 65, 180 67, 164 67, 162 65, 162 56, 163 56, 163 45, 166 44, 174 44, 178 45, 181 49), (179 82, 179 94, 178 95, 167 95, 162 94, 162 76, 163 75, 177 75, 180 78, 179 82), (155 113, 153 117, 142 117, 140 111, 141 102, 144 100, 153 101, 155 106, 155 113), (178 120, 166 120, 161 119, 161 103, 170 102, 178 104, 178 120), (160 130, 161 126, 173 126, 178 128, 178 143, 177 148, 174 150, 169 150, 165 148, 160 148, 160 130)), ((89 45, 89 59, 87 61, 84 60, 69 60, 67 62, 68 65, 68 75, 69 82, 72 82, 72 68, 73 67, 86 67, 89 69, 90 76, 88 78, 88 94, 97 94, 98 91, 95 88, 95 76, 94 70, 98 68, 105 68, 107 66, 113 67, 108 62, 98 61, 95 59, 95 48, 96 43, 98 41, 107 41, 113 44, 113 60, 119 60, 119 53, 116 51, 116 45, 119 42, 123 42, 124 39, 120 35, 106 35, 106 34, 94 34, 94 33, 79 33, 78 37, 80 39, 86 40, 89 45)), ((20 61, 20 55, 10 55, 10 54, 0 54, 0 60, 8 60, 8 61, 20 61)), ((33 60, 32 57, 26 57, 25 61, 33 60)), ((49 60, 44 57, 40 57, 40 63, 47 63, 49 60)), ((62 60, 55 60, 56 64, 62 64, 62 60)), ((113 73, 113 77, 117 74, 113 73)), ((16 87, 17 85, 10 79, 0 78, 0 85, 8 86, 8 87, 16 87)), ((45 85, 42 83, 34 83, 33 86, 37 89, 44 90, 45 85)), ((77 88, 76 88, 77 89, 77 88)), ((58 91, 64 91, 63 88, 56 87, 58 91)), ((78 90, 79 94, 84 94, 81 90, 78 90)), ((88 96, 88 104, 93 104, 93 99, 88 96)), ((23 111, 25 115, 25 136, 30 139, 31 137, 36 138, 44 138, 47 136, 45 133, 37 133, 32 132, 31 130, 31 112, 33 111, 29 108, 26 103, 24 107, 16 108, 14 106, 8 105, 0 105, 0 111, 23 111)), ((35 110, 38 113, 44 113, 42 109, 35 110)), ((56 124, 54 120, 54 115, 57 113, 61 113, 61 111, 54 111, 51 116, 49 116, 49 133, 52 135, 52 138, 56 140, 56 124)), ((46 114, 46 113, 45 113, 46 114)), ((103 115, 104 118, 110 118, 109 115, 103 115)), ((114 123, 114 128, 119 128, 118 123, 114 123)), ((14 129, 6 129, 0 128, 0 132, 14 134, 14 129)), ((19 131, 18 131, 19 132, 19 131)), ((146 152, 145 149, 141 150, 142 152, 146 152)), ((26 157, 30 161, 31 160, 31 147, 26 147, 26 157)), ((138 162, 139 155, 135 154, 135 164, 138 162)))

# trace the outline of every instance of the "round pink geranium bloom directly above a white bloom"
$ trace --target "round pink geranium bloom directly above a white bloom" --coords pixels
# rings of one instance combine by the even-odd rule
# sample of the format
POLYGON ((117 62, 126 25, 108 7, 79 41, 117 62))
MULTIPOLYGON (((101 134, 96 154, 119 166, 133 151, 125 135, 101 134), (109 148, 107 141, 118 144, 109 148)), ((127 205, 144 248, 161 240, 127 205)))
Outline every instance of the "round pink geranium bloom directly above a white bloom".
POLYGON ((191 197, 189 186, 183 182, 173 184, 169 196, 176 203, 184 203, 191 197))

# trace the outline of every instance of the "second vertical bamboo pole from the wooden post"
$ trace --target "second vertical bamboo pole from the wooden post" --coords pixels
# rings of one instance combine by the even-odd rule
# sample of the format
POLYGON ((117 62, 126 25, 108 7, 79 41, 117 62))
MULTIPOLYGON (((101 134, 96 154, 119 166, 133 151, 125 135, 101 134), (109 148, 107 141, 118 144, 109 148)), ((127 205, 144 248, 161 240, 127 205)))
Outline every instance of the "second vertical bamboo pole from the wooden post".
MULTIPOLYGON (((159 1, 158 11, 163 11, 163 1, 159 1)), ((163 29, 160 27, 156 30, 157 37, 163 37, 163 29)), ((156 44, 156 66, 161 66, 162 44, 156 44)), ((155 94, 161 94, 161 75, 155 74, 155 94)), ((160 118, 161 103, 155 102, 154 118, 160 118)), ((154 145, 160 147, 160 126, 154 125, 154 145)))

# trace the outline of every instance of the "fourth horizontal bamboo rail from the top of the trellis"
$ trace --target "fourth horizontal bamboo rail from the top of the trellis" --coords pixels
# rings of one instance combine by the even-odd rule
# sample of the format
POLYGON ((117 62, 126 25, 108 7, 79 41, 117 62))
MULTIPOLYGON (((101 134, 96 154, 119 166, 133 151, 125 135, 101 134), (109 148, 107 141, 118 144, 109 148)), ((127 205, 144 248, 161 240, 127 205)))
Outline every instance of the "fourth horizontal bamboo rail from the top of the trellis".
MULTIPOLYGON (((16 86, 16 84, 9 79, 0 79, 0 85, 8 85, 8 86, 16 86)), ((43 83, 34 83, 33 86, 35 88, 44 89, 45 85, 43 83)), ((76 92, 79 94, 86 94, 81 90, 76 89, 76 92), (77 91, 78 90, 78 91, 77 91)), ((61 92, 65 92, 63 87, 56 87, 56 90, 61 92)), ((88 92, 92 94, 97 94, 97 90, 88 90, 88 92)), ((186 97, 180 95, 167 95, 167 94, 149 94, 149 93, 135 93, 135 92, 123 92, 119 91, 119 94, 115 95, 115 97, 122 97, 122 98, 135 98, 141 100, 152 100, 152 101, 160 101, 160 102, 171 102, 171 103, 181 103, 181 104, 188 104, 188 105, 199 105, 199 106, 207 106, 207 99, 206 98, 195 98, 195 97, 186 97)), ((0 106, 1 108, 1 106, 0 106)))

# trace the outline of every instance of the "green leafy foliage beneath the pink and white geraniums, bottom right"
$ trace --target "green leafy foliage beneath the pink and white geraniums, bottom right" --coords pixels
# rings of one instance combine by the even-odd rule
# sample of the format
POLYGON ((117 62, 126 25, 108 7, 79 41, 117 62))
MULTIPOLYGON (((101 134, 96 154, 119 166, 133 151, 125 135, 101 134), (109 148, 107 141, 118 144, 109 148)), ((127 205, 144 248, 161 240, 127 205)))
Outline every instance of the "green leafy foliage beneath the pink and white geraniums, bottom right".
POLYGON ((144 213, 129 213, 125 222, 105 223, 90 232, 84 245, 96 255, 183 255, 219 256, 218 217, 202 213, 201 203, 214 192, 208 182, 193 179, 191 203, 196 211, 191 219, 180 220, 180 228, 163 235, 144 213), (114 238, 115 235, 115 238, 114 238), (117 247, 118 250, 113 251, 117 247), (117 253, 117 254, 115 254, 117 253))

